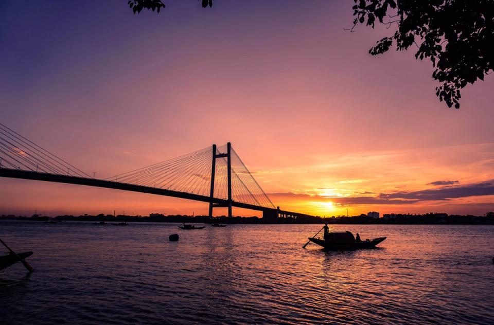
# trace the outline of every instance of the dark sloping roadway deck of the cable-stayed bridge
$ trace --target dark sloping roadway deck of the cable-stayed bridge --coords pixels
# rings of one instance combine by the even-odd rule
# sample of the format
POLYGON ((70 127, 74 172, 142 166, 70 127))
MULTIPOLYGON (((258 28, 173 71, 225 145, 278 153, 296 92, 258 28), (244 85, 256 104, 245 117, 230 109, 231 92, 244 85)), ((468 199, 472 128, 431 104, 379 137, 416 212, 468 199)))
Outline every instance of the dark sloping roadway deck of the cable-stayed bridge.
MULTIPOLYGON (((59 175, 59 174, 50 174, 50 173, 41 173, 34 171, 25 171, 19 169, 10 169, 10 168, 0 168, 0 177, 9 177, 9 178, 21 178, 21 179, 33 179, 33 180, 43 180, 45 182, 55 182, 55 183, 66 183, 66 184, 77 184, 77 185, 85 185, 85 186, 94 186, 94 187, 103 187, 103 188, 111 188, 123 191, 132 191, 132 192, 140 192, 140 193, 149 193, 156 195, 165 195, 172 197, 180 197, 187 198, 188 200, 195 200, 201 202, 213 202, 217 207, 227 207, 228 200, 223 198, 211 198, 209 196, 186 193, 186 192, 178 192, 172 190, 166 190, 162 188, 154 188, 148 186, 141 185, 132 185, 128 183, 119 183, 114 182, 113 180, 104 180, 97 178, 85 178, 71 175, 59 175)), ((263 218, 265 219, 277 219, 278 214, 282 215, 290 215, 290 216, 302 216, 306 214, 289 212, 289 211, 280 211, 279 209, 272 209, 266 207, 260 207, 252 204, 242 203, 232 201, 232 206, 243 209, 251 209, 256 211, 263 212, 263 218)))

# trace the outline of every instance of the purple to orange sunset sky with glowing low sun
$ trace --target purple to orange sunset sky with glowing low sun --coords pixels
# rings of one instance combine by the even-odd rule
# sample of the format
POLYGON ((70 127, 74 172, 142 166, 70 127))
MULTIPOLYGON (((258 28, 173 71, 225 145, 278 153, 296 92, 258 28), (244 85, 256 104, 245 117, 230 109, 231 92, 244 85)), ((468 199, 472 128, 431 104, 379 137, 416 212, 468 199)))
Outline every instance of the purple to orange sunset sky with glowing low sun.
MULTIPOLYGON (((490 76, 448 109, 413 49, 368 54, 392 28, 344 30, 352 1, 164 3, 0 2, 0 122, 97 178, 230 141, 284 210, 494 210, 490 76)), ((207 204, 0 179, 0 214, 114 210, 207 204)))

